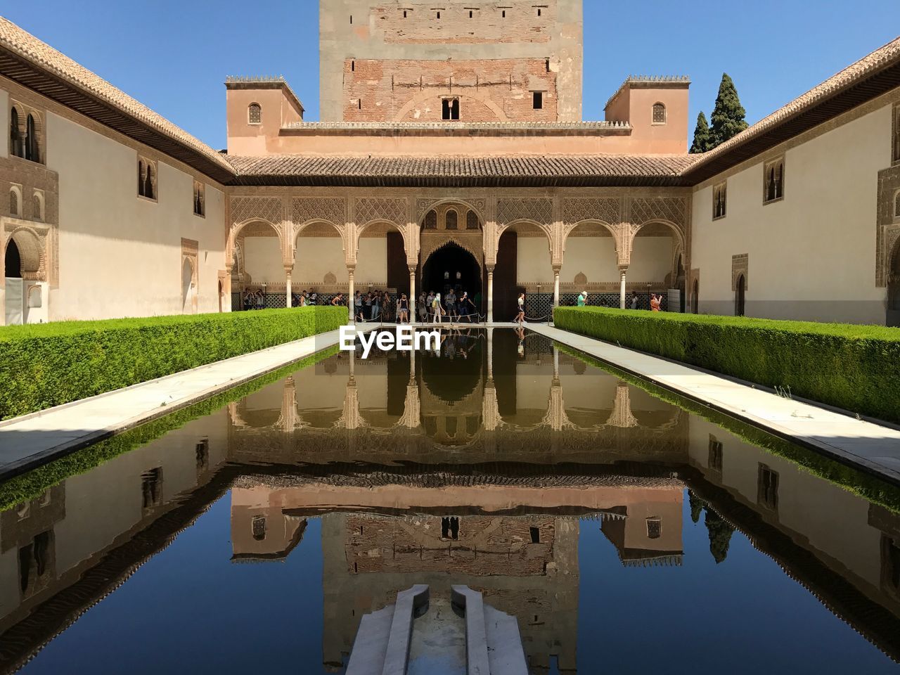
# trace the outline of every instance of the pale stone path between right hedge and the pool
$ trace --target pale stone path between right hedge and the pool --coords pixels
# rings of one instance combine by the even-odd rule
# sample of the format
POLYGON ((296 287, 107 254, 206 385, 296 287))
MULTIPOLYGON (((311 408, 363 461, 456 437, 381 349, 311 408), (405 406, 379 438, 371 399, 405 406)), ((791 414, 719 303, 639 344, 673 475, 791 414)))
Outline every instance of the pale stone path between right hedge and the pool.
POLYGON ((856 419, 774 393, 753 389, 725 377, 703 373, 608 342, 586 338, 543 324, 527 324, 547 338, 644 380, 657 383, 755 427, 787 437, 843 462, 857 464, 900 483, 900 431, 856 419))

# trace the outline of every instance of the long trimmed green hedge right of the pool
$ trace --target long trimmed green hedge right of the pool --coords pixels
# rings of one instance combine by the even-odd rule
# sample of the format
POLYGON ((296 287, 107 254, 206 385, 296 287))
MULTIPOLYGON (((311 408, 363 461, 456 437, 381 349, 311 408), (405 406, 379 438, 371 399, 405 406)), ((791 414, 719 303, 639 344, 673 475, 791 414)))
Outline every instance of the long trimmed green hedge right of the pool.
POLYGON ((900 330, 558 307, 557 328, 900 422, 900 330))

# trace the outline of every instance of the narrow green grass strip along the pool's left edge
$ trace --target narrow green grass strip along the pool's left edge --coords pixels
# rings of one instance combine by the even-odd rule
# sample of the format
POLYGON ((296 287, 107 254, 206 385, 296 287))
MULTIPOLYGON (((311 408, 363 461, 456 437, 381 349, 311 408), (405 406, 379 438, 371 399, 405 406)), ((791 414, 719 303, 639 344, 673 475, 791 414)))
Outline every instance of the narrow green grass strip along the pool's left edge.
POLYGON ((106 438, 93 446, 85 447, 83 450, 78 450, 71 455, 61 457, 49 464, 43 464, 30 472, 0 483, 0 511, 12 509, 23 501, 36 499, 44 491, 49 490, 54 485, 58 485, 58 483, 65 481, 67 478, 87 473, 100 464, 145 446, 176 428, 184 427, 185 424, 194 419, 210 415, 231 401, 240 401, 251 393, 259 391, 267 384, 278 382, 289 374, 316 364, 337 353, 337 346, 329 347, 329 349, 308 356, 302 361, 285 365, 284 368, 216 394, 205 401, 199 401, 192 406, 177 410, 171 415, 154 419, 118 436, 106 438))

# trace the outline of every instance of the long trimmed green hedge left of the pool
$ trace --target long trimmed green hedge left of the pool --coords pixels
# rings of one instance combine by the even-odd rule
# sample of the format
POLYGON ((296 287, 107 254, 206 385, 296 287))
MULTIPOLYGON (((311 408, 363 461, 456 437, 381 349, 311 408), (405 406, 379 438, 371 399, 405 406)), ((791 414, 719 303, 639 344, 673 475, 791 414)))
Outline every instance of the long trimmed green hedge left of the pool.
POLYGON ((343 307, 241 311, 0 329, 0 419, 112 392, 338 329, 343 307))

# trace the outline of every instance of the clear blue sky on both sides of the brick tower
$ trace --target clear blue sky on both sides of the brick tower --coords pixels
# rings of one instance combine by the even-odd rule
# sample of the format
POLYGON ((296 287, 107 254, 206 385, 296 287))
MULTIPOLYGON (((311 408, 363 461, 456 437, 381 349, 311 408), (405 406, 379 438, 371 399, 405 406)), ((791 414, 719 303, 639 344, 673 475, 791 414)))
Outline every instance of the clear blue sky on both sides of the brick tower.
MULTIPOLYGON (((306 119, 319 119, 318 0, 4 5, 14 23, 213 148, 225 146, 228 75, 284 75, 306 119)), ((900 0, 584 5, 584 118, 602 119, 629 74, 683 74, 691 133, 723 72, 752 123, 900 33, 900 0)))

